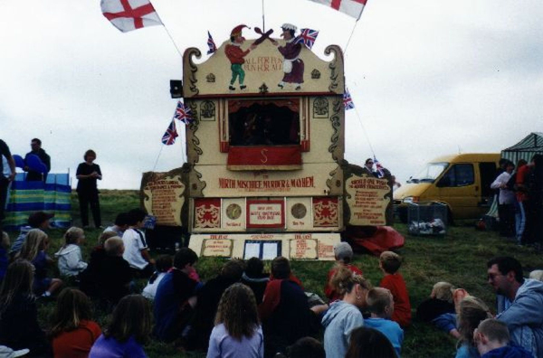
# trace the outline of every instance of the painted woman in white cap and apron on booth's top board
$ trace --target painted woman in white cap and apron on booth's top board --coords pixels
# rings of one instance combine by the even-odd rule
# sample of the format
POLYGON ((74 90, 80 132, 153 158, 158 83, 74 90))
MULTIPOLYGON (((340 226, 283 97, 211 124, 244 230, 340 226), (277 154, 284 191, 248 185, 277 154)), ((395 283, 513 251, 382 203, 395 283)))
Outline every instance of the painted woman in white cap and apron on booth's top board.
POLYGON ((299 58, 301 52, 301 43, 296 43, 296 33, 297 27, 293 24, 282 24, 281 26, 281 36, 285 39, 286 43, 284 46, 279 46, 279 42, 271 40, 275 46, 278 46, 277 50, 281 52, 283 56, 283 72, 284 76, 277 86, 283 89, 285 83, 292 83, 294 89, 301 89, 301 84, 303 83, 303 71, 304 63, 299 58))

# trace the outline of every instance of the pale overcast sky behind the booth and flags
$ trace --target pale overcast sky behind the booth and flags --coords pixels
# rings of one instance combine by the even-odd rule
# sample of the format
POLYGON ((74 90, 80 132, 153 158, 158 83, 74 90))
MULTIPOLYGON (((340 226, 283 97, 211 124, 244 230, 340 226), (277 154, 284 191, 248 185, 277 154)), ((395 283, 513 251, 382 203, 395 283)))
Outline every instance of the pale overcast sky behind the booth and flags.
MULTIPOLYGON (((205 53, 208 30, 220 44, 237 24, 262 27, 258 0, 153 4, 180 52, 205 53)), ((320 57, 355 29, 345 65, 359 114, 346 115, 350 163, 373 147, 404 182, 436 155, 498 153, 543 131, 541 0, 368 0, 358 23, 308 0, 265 0, 264 9, 276 35, 283 23, 319 30, 320 57)), ((92 148, 109 189, 138 188, 156 163, 183 164, 184 132, 158 157, 176 107, 169 80, 183 76, 164 27, 120 33, 100 0, 0 0, 0 13, 0 137, 14 154, 39 137, 52 172, 73 175, 92 148)))

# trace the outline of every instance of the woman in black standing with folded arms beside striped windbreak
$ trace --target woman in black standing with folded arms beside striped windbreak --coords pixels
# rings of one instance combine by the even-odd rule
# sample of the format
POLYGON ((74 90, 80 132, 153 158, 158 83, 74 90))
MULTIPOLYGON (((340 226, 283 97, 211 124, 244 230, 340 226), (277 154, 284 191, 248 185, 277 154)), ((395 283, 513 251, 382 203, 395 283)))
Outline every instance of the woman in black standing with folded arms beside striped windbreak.
POLYGON ((80 202, 81 222, 83 227, 89 226, 89 204, 94 226, 101 229, 100 200, 96 181, 101 180, 100 165, 94 164, 96 153, 92 149, 85 152, 85 162, 77 167, 77 197, 80 202))

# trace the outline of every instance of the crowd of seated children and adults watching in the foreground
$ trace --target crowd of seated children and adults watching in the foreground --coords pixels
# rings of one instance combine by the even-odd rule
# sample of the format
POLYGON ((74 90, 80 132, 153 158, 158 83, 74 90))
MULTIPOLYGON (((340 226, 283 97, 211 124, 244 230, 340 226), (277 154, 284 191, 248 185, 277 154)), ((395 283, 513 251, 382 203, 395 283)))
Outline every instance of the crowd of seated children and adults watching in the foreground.
MULTIPOLYGON (((119 215, 100 235, 88 263, 80 248, 85 232, 68 229, 54 255, 61 280, 48 276, 54 260, 47 254, 48 218, 40 218, 43 222, 25 230, 11 251, 9 237, 2 235, 0 344, 9 348, 0 346, 0 352, 145 357, 144 345, 152 338, 208 357, 401 355, 412 309, 399 272, 402 258, 395 252, 380 255, 383 278, 372 287, 353 263, 351 247, 340 242, 334 247, 336 264, 323 282, 329 299, 325 304, 305 291, 283 257, 271 261, 269 274, 261 259, 230 259, 206 282, 196 272, 193 250, 181 248, 174 257, 151 259, 141 230, 145 212, 136 209, 119 215), (142 291, 137 278, 148 278, 142 291), (65 283, 70 287, 61 289, 65 283), (57 305, 45 332, 38 323, 37 303, 53 295, 57 305), (93 320, 90 298, 111 313, 103 330, 93 320), (314 338, 321 329, 322 344, 314 338)), ((522 278, 512 258, 492 259, 488 269, 489 283, 506 299, 498 319, 481 299, 448 282, 433 286, 430 297, 417 307, 416 318, 456 338, 457 358, 543 357, 543 283, 538 281, 543 271, 522 278), (531 315, 526 325, 532 335, 520 319, 511 320, 513 311, 531 315)))

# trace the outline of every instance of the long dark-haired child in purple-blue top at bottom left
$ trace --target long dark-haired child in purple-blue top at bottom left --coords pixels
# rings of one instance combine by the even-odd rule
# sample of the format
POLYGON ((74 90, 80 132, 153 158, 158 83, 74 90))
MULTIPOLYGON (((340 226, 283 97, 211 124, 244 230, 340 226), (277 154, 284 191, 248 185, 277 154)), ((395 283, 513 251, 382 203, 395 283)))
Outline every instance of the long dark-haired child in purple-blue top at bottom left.
POLYGON ((130 295, 115 307, 110 325, 90 348, 89 358, 147 357, 143 345, 148 343, 152 314, 147 298, 130 295))

